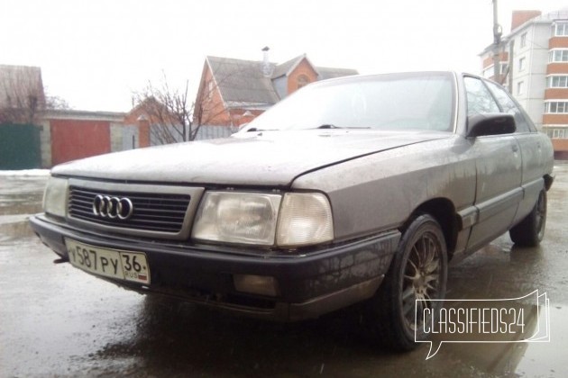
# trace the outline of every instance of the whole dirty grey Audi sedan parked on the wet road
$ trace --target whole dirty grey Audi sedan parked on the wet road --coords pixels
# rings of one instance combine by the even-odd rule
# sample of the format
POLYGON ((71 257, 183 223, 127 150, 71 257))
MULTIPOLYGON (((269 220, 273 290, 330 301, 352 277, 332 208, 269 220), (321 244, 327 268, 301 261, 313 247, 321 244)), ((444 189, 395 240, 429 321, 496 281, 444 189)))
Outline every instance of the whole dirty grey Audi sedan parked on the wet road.
POLYGON ((276 320, 363 302, 378 338, 410 349, 450 260, 508 230, 542 239, 552 182, 550 140, 499 85, 352 76, 228 139, 56 166, 31 224, 129 289, 276 320))

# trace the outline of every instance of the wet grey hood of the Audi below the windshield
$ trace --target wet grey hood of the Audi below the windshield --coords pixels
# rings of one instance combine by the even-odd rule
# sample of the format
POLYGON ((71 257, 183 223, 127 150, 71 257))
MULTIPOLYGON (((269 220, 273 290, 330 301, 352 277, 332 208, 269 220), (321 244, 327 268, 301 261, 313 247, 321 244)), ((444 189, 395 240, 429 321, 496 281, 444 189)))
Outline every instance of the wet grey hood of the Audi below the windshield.
POLYGON ((88 157, 53 175, 137 182, 288 186, 298 175, 355 157, 432 139, 442 132, 262 131, 88 157))

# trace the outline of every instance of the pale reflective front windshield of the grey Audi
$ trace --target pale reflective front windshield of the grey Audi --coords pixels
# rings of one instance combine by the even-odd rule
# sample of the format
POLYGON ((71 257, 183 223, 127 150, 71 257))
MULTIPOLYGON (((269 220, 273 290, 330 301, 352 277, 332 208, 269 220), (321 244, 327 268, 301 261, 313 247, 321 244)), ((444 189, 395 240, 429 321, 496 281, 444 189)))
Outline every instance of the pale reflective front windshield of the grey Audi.
POLYGON ((243 131, 305 129, 453 130, 449 73, 357 76, 307 85, 243 131))

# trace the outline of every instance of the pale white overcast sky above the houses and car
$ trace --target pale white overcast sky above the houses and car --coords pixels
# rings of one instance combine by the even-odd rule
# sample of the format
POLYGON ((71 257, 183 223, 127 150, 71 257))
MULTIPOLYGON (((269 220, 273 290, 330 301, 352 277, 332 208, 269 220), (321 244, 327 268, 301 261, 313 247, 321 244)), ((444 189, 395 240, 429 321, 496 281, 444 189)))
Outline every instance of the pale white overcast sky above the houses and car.
MULTIPOLYGON (((543 13, 563 0, 498 0, 543 13)), ((0 64, 41 67, 48 94, 78 110, 128 112, 162 72, 193 96, 207 55, 362 74, 421 69, 479 73, 493 40, 491 0, 0 0, 0 64)))

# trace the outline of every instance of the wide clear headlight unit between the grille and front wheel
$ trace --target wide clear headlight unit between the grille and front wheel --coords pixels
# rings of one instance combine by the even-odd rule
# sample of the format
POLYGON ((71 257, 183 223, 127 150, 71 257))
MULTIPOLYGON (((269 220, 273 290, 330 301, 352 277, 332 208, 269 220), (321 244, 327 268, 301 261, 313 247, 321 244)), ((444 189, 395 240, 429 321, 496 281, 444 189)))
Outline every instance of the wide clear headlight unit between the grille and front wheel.
POLYGON ((205 193, 192 238, 271 247, 300 247, 334 238, 322 193, 205 193))

